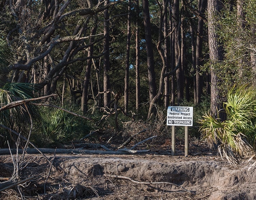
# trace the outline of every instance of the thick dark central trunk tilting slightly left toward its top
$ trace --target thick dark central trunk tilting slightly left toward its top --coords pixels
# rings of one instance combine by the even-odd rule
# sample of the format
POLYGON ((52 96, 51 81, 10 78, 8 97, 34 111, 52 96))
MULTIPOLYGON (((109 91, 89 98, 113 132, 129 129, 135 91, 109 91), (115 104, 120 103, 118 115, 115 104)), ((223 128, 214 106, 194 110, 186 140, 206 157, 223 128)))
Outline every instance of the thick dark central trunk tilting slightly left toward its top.
POLYGON ((154 54, 151 38, 150 13, 148 8, 148 0, 142 0, 143 21, 145 27, 146 53, 147 53, 147 71, 148 71, 148 87, 150 102, 156 96, 156 80, 154 68, 154 54))

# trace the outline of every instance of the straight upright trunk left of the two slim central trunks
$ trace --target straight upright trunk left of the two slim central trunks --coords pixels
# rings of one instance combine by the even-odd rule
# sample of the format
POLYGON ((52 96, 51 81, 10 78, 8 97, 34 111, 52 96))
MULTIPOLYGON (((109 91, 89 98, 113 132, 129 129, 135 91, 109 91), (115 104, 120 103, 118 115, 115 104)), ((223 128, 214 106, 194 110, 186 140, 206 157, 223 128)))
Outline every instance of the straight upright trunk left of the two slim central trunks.
MULTIPOLYGON (((105 0, 105 4, 107 5, 109 0, 105 0)), ((109 11, 108 9, 104 10, 104 63, 103 63, 103 103, 104 107, 108 106, 110 102, 110 93, 108 90, 110 89, 109 83, 109 70, 110 70, 110 63, 109 63, 109 11)))

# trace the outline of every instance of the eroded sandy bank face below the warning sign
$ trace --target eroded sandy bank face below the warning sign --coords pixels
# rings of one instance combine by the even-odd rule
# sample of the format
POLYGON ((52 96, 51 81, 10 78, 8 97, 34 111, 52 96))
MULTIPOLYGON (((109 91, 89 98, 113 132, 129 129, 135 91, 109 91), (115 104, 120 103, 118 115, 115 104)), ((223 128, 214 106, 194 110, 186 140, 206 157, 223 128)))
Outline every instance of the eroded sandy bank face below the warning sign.
POLYGON ((105 189, 112 193, 103 199, 136 195, 145 199, 256 199, 256 170, 248 171, 245 163, 241 168, 231 168, 219 157, 81 155, 57 157, 56 163, 70 179, 82 182, 91 177, 103 181, 105 189), (141 182, 169 182, 189 191, 165 183, 134 184, 126 179, 106 178, 108 174, 141 182))

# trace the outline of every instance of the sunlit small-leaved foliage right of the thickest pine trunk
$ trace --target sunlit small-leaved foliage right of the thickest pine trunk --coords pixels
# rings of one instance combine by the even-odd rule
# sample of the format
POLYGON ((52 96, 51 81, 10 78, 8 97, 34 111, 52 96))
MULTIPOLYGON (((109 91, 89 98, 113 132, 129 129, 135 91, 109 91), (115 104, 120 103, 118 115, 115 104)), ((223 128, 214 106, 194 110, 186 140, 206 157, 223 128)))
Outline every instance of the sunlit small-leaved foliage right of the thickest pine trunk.
POLYGON ((245 0, 242 12, 238 14, 237 7, 227 2, 222 10, 222 18, 218 20, 217 34, 224 47, 224 61, 217 67, 217 75, 221 80, 220 89, 226 91, 230 84, 252 83, 255 77, 253 69, 255 55, 255 7, 256 2, 245 0))

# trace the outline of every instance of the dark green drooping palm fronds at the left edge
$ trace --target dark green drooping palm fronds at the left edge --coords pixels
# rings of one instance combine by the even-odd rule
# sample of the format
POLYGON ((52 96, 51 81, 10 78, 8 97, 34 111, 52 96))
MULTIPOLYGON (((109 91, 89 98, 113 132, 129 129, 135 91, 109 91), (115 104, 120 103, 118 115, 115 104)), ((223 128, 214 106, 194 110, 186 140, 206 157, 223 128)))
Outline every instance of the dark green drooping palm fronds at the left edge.
MULTIPOLYGON (((6 83, 0 88, 0 106, 7 105, 11 102, 33 98, 34 84, 25 83, 6 83)), ((27 136, 28 128, 30 127, 30 116, 33 118, 38 117, 35 106, 24 104, 13 107, 11 109, 3 110, 0 112, 0 124, 11 128, 16 132, 22 133, 27 136)), ((9 131, 1 128, 2 139, 0 147, 8 147, 7 140, 11 146, 15 145, 16 137, 10 135, 9 131)))

